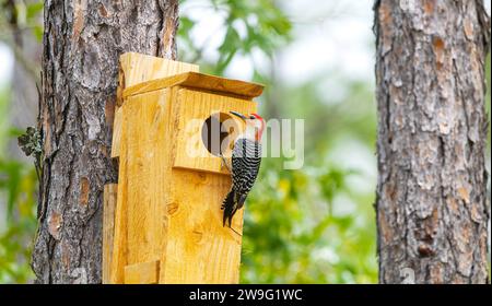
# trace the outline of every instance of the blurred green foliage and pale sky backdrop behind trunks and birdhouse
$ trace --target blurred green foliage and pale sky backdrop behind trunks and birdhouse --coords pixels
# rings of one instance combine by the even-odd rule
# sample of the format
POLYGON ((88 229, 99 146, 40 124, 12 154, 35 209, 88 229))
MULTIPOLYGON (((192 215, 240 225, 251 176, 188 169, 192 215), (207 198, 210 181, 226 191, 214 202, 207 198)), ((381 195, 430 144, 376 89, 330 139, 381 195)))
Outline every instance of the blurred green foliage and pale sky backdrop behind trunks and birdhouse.
MULTIPOLYGON (((267 119, 305 119, 303 167, 266 158, 248 198, 243 283, 377 282, 372 1, 321 2, 180 1, 179 60, 266 84, 267 119)), ((15 138, 35 125, 43 4, 0 8, 0 283, 26 283, 37 178, 15 138)))

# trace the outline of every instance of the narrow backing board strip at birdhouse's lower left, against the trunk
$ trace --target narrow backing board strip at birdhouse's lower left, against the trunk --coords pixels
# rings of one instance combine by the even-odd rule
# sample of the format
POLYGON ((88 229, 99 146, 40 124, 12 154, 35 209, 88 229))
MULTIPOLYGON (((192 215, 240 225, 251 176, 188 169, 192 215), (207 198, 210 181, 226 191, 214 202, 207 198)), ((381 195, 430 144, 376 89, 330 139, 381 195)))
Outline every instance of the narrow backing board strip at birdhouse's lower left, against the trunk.
POLYGON ((118 184, 106 184, 104 186, 103 204, 103 283, 110 282, 109 271, 113 256, 113 244, 115 235, 115 211, 118 195, 118 184))

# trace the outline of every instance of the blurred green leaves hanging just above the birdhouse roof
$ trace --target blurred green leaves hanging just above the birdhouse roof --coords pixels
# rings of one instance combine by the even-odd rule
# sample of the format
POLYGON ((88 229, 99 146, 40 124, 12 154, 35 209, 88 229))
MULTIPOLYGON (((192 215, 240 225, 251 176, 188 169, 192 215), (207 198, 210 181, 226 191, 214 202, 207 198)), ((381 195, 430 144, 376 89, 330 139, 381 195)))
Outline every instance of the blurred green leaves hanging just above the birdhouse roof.
MULTIPOLYGON (((187 1, 181 1, 184 2, 187 1)), ((198 61, 210 73, 223 74, 235 56, 253 59, 253 52, 259 51, 271 58, 290 39, 291 22, 273 0, 208 0, 206 3, 223 15, 221 28, 225 28, 225 34, 218 48, 218 61, 206 62, 202 58, 203 48, 196 46, 190 38, 189 34, 197 26, 197 20, 180 16, 178 39, 180 59, 198 61)))

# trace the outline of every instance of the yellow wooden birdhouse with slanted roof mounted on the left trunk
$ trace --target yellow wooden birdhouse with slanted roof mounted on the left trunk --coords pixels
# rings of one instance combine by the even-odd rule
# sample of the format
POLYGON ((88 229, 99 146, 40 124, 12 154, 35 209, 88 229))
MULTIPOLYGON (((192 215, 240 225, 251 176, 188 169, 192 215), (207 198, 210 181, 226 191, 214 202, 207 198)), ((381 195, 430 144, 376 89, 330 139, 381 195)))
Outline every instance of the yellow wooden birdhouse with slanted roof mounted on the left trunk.
POLYGON ((112 151, 119 178, 105 189, 105 283, 238 282, 243 210, 232 228, 222 225, 231 176, 219 155, 230 155, 230 146, 213 139, 234 140, 244 126, 230 111, 255 113, 261 92, 194 64, 121 56, 112 151))

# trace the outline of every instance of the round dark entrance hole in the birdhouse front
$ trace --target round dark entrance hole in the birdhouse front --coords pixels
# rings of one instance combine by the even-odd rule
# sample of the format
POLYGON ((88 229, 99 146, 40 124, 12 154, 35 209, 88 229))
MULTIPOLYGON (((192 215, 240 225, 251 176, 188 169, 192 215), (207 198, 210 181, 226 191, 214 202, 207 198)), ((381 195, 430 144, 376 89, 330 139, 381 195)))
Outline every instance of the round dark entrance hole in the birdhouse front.
POLYGON ((201 128, 201 140, 207 150, 215 156, 226 155, 237 136, 237 126, 225 113, 212 114, 201 128))

